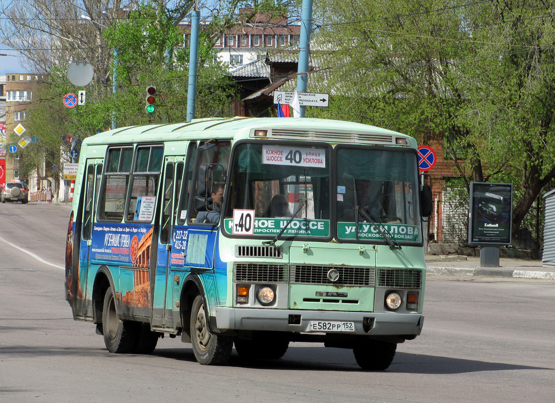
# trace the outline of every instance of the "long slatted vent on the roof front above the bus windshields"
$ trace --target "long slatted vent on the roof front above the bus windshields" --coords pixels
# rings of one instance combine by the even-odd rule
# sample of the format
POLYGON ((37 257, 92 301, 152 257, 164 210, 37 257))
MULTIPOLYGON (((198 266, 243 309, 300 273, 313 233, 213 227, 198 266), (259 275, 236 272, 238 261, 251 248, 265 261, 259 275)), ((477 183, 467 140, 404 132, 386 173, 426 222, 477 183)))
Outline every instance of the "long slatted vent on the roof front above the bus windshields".
POLYGON ((384 133, 273 129, 270 136, 330 143, 395 144, 393 136, 384 133))

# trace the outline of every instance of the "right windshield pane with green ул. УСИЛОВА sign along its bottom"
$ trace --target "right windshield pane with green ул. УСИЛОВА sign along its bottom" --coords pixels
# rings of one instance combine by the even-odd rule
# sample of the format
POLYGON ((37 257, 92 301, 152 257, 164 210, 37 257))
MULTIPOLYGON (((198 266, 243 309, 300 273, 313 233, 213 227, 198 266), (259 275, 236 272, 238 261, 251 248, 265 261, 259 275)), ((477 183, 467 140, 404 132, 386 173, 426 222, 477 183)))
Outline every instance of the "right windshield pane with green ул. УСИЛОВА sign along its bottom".
POLYGON ((338 239, 422 242, 414 153, 337 147, 336 158, 338 239))

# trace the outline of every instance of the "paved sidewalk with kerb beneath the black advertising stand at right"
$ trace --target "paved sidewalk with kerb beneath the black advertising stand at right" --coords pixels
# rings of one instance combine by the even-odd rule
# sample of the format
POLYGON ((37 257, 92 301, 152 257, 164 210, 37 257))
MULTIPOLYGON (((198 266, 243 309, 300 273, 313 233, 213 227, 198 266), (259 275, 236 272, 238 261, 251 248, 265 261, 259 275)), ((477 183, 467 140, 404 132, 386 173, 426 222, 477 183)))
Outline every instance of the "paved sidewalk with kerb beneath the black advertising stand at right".
POLYGON ((499 258, 501 267, 480 267, 480 257, 426 255, 428 275, 492 276, 555 280, 555 266, 542 266, 541 260, 499 258))

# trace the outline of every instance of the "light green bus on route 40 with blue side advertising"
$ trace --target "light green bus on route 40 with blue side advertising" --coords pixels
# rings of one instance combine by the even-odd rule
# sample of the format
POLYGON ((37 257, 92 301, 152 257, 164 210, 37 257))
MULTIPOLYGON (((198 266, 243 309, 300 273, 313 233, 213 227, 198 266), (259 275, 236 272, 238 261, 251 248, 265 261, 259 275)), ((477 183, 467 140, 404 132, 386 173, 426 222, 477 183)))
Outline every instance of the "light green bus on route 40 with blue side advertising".
POLYGON ((291 342, 384 370, 420 335, 426 265, 412 137, 310 118, 211 118, 83 141, 65 297, 110 352, 159 337, 200 364, 291 342))

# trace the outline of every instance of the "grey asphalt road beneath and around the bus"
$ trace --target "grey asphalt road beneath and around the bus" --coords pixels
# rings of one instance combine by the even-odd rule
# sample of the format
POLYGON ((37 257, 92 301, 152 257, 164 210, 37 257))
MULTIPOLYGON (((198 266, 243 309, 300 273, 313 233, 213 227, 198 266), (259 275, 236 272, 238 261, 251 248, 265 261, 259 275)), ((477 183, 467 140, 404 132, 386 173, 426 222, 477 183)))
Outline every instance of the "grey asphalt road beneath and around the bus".
POLYGON ((384 372, 351 351, 201 366, 166 337, 152 356, 105 350, 63 295, 69 208, 0 205, 0 402, 523 402, 555 398, 553 281, 432 276, 422 335, 384 372))

